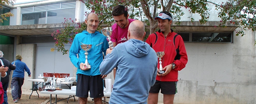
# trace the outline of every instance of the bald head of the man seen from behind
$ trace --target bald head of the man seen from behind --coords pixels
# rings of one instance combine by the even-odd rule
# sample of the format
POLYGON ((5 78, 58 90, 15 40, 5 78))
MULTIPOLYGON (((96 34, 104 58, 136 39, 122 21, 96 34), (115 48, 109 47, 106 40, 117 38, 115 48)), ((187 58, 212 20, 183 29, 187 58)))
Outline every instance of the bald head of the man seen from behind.
POLYGON ((131 22, 128 28, 128 36, 130 38, 135 38, 138 40, 143 40, 143 37, 145 36, 145 25, 143 22, 139 20, 135 20, 131 22), (130 36, 129 36, 130 33, 130 36))

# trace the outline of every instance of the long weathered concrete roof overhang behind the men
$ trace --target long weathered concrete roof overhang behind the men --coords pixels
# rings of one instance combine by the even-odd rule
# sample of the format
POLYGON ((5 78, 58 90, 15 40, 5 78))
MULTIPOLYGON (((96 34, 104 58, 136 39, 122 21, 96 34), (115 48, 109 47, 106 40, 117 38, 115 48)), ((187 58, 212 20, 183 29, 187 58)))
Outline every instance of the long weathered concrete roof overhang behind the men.
MULTIPOLYGON (((219 21, 208 21, 205 24, 201 24, 198 21, 193 23, 191 21, 182 21, 180 25, 172 25, 172 28, 174 27, 173 30, 176 32, 224 32, 234 31, 238 27, 234 24, 218 27, 219 23, 219 21)), ((0 34, 11 36, 50 35, 64 27, 63 23, 0 26, 0 34)), ((149 26, 146 26, 146 28, 149 28, 149 26)))

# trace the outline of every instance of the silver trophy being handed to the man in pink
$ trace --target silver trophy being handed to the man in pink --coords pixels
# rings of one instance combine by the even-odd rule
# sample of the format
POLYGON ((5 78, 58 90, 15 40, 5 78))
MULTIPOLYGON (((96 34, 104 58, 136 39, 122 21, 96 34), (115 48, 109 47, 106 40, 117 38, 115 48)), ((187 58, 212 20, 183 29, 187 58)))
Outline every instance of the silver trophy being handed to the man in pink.
POLYGON ((110 38, 110 36, 112 35, 112 27, 105 27, 105 28, 103 28, 102 30, 100 30, 101 31, 101 33, 104 35, 104 36, 106 36, 107 37, 107 40, 109 40, 109 48, 110 49, 113 49, 114 47, 113 47, 113 42, 111 41, 111 38, 110 38))

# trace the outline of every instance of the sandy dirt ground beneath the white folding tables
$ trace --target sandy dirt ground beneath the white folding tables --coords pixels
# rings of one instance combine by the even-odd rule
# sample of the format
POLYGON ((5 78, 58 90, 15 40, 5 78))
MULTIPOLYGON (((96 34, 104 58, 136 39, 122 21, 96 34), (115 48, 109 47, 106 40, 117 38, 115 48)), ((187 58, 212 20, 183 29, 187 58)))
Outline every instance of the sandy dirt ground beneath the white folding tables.
MULTIPOLYGON (((9 104, 41 104, 44 101, 46 101, 47 99, 50 99, 50 97, 39 97, 38 98, 38 96, 31 96, 29 99, 29 95, 22 94, 21 100, 19 100, 18 103, 13 103, 11 94, 9 94, 8 103, 9 104)), ((61 99, 58 98, 57 100, 61 100, 61 99)), ((52 103, 53 102, 55 102, 55 98, 52 98, 52 103)), ((50 104, 50 101, 46 104, 50 104)), ((67 103, 67 99, 65 99, 60 102, 57 102, 57 104, 78 104, 78 99, 76 99, 75 102, 74 102, 74 99, 70 99, 69 103, 67 103)), ((94 103, 93 103, 93 101, 88 101, 87 104, 94 104, 94 103)))

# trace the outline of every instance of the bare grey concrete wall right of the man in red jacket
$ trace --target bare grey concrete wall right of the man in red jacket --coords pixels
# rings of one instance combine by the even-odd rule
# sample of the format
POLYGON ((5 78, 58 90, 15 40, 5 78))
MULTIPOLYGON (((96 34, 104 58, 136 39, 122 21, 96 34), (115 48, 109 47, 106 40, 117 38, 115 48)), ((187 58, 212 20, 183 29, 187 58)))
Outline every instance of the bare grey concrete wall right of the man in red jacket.
POLYGON ((174 103, 256 104, 256 32, 245 33, 233 44, 185 43, 189 62, 179 71, 174 103))

